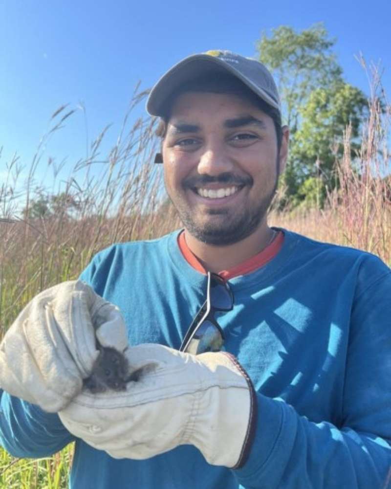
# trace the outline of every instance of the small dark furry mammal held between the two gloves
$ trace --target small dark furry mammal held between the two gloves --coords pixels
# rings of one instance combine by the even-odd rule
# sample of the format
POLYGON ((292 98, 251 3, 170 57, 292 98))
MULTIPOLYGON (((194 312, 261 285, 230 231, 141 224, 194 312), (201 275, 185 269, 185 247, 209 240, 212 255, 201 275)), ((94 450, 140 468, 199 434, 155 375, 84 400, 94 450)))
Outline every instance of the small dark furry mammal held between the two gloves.
POLYGON ((98 346, 100 354, 84 386, 93 394, 107 389, 125 391, 127 382, 138 380, 138 371, 129 375, 129 362, 124 354, 111 347, 98 346))

